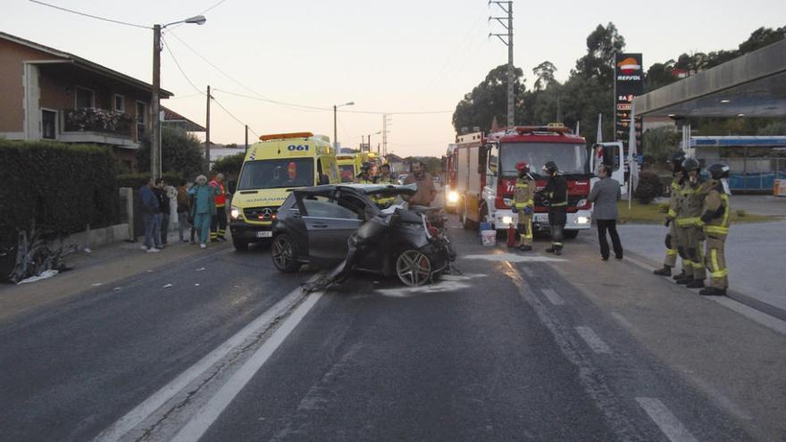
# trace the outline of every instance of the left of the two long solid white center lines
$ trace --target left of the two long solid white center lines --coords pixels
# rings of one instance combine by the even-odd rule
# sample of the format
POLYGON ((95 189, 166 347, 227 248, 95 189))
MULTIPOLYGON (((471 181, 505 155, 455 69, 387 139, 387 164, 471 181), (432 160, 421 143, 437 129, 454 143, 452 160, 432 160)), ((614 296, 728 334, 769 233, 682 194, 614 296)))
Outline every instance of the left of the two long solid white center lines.
MULTIPOLYGON (((318 276, 319 275, 314 275, 309 281, 315 280, 318 276)), ((288 310, 291 309, 293 305, 297 304, 304 296, 300 288, 292 290, 265 313, 261 314, 246 327, 238 331, 233 337, 224 341, 221 346, 216 347, 199 362, 189 367, 188 370, 180 373, 177 378, 172 379, 170 383, 156 391, 141 404, 138 404, 111 427, 105 429, 96 437, 96 441, 121 440, 121 438, 126 436, 132 429, 135 429, 139 423, 145 421, 147 417, 155 413, 163 404, 166 404, 172 397, 178 395, 183 388, 188 387, 188 384, 204 376, 205 372, 209 371, 215 363, 221 361, 231 352, 238 351, 239 348, 245 346, 248 339, 255 338, 255 335, 262 332, 264 329, 268 329, 273 321, 281 314, 288 312, 288 310)))

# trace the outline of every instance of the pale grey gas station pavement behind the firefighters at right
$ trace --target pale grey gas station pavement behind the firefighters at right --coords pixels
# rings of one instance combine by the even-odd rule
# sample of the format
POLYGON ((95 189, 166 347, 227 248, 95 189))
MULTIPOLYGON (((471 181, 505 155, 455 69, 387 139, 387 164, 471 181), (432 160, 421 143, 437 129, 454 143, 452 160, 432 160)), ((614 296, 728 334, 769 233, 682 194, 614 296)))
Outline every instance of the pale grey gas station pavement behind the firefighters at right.
MULTIPOLYGON (((653 268, 662 265, 665 227, 626 224, 617 229, 626 254, 639 255, 653 268)), ((597 242, 597 230, 590 231, 592 240, 597 242)), ((786 221, 732 224, 726 241, 730 296, 786 321, 783 250, 786 250, 786 221)), ((677 266, 679 269, 679 262, 677 266)))

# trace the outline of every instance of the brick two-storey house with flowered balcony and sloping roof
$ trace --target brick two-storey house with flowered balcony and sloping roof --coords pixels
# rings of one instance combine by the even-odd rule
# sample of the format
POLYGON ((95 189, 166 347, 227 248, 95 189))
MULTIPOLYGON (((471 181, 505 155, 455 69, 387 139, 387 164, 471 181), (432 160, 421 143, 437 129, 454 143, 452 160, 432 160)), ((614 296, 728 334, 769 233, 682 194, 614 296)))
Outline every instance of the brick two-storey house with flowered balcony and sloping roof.
MULTIPOLYGON (((0 32, 0 137, 112 148, 121 169, 151 127, 150 84, 0 32)), ((173 94, 161 90, 162 98, 173 94)))

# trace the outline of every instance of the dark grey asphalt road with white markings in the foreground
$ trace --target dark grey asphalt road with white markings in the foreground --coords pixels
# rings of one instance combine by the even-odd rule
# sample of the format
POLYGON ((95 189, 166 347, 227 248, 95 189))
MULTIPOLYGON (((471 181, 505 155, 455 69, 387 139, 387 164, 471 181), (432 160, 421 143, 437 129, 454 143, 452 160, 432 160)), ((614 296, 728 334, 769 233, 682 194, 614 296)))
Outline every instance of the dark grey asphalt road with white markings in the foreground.
POLYGON ((554 261, 450 231, 462 273, 425 288, 302 296, 221 251, 0 323, 2 439, 786 438, 777 323, 581 236, 554 261))

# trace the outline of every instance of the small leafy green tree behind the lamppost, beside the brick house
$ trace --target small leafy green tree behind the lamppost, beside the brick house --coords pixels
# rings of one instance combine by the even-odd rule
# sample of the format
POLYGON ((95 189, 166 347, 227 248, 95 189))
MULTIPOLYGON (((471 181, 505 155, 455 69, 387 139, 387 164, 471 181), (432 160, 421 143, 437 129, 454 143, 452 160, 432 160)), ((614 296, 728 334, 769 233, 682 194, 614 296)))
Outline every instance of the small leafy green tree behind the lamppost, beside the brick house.
MULTIPOLYGON (((183 178, 193 179, 202 171, 202 148, 199 140, 177 129, 161 130, 162 170, 174 172, 183 178)), ((139 171, 150 171, 150 139, 143 139, 137 152, 139 171)))

